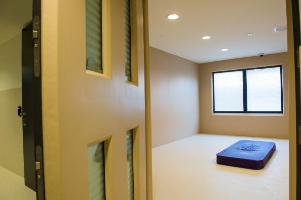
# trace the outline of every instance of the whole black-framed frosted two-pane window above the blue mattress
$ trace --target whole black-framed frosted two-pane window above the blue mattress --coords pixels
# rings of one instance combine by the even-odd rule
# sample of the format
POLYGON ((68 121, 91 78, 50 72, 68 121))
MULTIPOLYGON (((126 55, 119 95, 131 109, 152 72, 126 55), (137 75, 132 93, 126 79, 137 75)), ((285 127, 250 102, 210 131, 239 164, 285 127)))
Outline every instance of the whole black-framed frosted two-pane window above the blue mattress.
POLYGON ((213 112, 283 113, 282 66, 212 72, 213 112))

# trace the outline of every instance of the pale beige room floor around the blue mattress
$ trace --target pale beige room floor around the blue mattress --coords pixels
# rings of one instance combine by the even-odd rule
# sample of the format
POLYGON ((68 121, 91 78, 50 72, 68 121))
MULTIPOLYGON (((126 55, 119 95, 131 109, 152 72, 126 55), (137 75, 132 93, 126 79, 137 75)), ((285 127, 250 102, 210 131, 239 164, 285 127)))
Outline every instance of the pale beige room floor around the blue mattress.
POLYGON ((153 149, 154 200, 288 200, 288 140, 198 134, 153 149), (216 164, 216 153, 242 139, 272 141, 262 170, 216 164))

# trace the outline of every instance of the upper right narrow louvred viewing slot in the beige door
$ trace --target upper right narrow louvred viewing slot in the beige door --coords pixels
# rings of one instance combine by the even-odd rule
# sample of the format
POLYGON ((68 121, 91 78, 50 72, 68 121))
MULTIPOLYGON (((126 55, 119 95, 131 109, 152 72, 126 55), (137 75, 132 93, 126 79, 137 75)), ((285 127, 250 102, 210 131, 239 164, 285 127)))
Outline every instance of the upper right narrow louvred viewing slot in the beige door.
POLYGON ((126 81, 132 81, 132 28, 131 28, 131 0, 124 0, 125 25, 125 68, 126 81))

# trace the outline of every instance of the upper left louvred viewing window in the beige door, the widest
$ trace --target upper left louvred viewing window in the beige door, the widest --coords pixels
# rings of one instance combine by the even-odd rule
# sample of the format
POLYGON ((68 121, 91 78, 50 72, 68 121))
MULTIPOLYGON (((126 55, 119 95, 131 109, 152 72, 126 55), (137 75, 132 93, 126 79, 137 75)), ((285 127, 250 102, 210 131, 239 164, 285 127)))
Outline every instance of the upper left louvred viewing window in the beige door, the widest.
POLYGON ((86 69, 102 70, 102 1, 86 0, 86 69))

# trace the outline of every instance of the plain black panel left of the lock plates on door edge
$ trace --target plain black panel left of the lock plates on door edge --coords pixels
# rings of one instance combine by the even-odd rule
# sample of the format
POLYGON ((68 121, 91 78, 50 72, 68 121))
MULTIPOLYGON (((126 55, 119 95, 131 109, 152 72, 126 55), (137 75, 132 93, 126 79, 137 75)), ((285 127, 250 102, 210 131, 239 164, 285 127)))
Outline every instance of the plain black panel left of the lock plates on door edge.
POLYGON ((34 91, 32 25, 22 30, 22 105, 23 105, 23 154, 25 185, 36 191, 34 150, 34 91))

